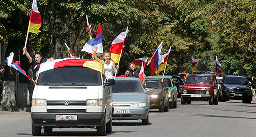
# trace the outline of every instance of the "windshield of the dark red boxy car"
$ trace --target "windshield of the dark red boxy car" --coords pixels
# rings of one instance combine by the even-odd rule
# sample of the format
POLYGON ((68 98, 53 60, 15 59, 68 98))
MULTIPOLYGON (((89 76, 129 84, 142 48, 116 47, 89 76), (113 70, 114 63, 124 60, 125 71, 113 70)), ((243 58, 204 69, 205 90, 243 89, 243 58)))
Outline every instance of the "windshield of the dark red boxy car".
POLYGON ((213 84, 213 78, 211 76, 204 75, 190 75, 187 76, 186 84, 213 84))

